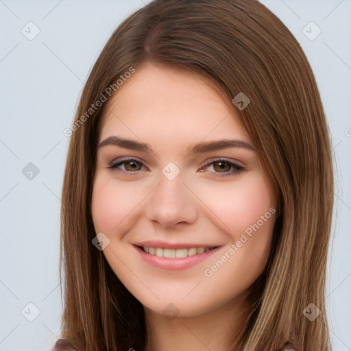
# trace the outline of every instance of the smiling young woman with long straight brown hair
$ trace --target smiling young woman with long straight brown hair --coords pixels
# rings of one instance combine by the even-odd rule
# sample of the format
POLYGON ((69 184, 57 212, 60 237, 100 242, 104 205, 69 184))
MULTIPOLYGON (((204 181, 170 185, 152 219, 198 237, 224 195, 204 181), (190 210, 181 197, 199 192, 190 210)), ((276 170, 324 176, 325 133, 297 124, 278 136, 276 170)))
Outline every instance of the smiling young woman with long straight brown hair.
POLYGON ((328 129, 265 6, 138 10, 69 133, 56 350, 330 350, 328 129))

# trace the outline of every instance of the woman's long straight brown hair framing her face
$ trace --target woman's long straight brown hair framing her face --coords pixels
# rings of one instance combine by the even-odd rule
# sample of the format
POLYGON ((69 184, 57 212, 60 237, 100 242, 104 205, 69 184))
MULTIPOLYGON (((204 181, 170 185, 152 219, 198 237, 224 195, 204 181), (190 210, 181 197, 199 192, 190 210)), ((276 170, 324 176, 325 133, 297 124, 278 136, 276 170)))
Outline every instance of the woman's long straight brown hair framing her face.
POLYGON ((89 109, 110 97, 109 86, 118 93, 121 75, 147 62, 204 77, 228 101, 241 92, 250 98, 237 112, 279 206, 269 264, 254 284, 256 301, 236 350, 278 350, 286 341, 299 351, 330 350, 324 289, 333 175, 326 118, 302 48, 255 0, 154 0, 106 43, 82 92, 64 173, 62 337, 79 351, 145 350, 143 306, 92 244, 90 202, 105 104, 89 109), (313 321, 304 312, 311 303, 321 311, 313 321))

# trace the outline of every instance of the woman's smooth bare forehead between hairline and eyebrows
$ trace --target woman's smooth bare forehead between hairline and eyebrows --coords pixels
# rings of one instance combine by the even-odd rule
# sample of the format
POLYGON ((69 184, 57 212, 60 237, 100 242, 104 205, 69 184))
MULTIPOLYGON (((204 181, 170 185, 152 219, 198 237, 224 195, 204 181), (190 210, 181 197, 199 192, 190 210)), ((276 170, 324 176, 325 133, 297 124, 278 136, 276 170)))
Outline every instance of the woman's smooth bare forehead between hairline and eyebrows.
POLYGON ((106 103, 100 141, 114 132, 165 143, 207 136, 250 141, 231 101, 207 80, 152 64, 136 69, 106 103))

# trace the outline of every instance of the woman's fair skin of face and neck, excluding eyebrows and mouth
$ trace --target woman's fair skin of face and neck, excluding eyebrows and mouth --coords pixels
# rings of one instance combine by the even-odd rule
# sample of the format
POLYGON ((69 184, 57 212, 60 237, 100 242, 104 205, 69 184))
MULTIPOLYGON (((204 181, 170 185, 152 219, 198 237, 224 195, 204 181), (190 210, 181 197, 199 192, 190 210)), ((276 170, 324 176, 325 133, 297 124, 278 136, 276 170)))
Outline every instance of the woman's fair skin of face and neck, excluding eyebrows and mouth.
POLYGON ((212 276, 204 271, 228 255, 261 215, 276 208, 273 187, 255 150, 186 152, 194 143, 223 138, 252 145, 237 113, 205 80, 154 64, 136 69, 104 110, 99 143, 118 135, 154 150, 99 147, 91 204, 96 232, 110 240, 103 250, 106 260, 144 306, 147 350, 228 350, 242 330, 247 292, 267 262, 275 215, 212 276), (108 168, 124 156, 142 163, 108 168), (233 168, 219 167, 218 158, 244 169, 221 177, 233 168), (162 173, 169 162, 180 169, 174 180, 162 173), (221 248, 193 267, 169 271, 143 261, 132 244, 145 240, 221 248), (175 318, 163 312, 170 303, 175 318))

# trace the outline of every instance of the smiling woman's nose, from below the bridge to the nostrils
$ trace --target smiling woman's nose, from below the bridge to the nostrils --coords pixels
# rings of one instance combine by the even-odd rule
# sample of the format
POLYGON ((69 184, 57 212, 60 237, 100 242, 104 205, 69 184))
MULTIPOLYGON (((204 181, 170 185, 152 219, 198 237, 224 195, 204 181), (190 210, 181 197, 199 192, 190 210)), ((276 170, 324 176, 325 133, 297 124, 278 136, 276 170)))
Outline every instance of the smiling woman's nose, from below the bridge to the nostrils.
POLYGON ((146 217, 162 227, 193 223, 197 218, 196 197, 186 186, 180 173, 169 180, 162 173, 160 182, 148 197, 146 217))

